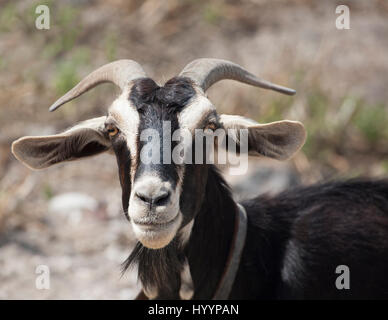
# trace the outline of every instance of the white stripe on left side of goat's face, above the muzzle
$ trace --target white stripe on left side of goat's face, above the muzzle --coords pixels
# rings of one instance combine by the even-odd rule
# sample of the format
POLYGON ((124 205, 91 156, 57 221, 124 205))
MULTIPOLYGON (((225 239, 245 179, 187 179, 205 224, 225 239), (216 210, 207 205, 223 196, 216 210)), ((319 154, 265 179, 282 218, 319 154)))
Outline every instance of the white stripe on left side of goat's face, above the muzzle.
POLYGON ((134 168, 137 159, 137 135, 140 123, 139 113, 128 100, 128 91, 124 91, 109 108, 109 114, 115 119, 119 129, 125 134, 127 146, 131 153, 131 179, 133 183, 134 168))

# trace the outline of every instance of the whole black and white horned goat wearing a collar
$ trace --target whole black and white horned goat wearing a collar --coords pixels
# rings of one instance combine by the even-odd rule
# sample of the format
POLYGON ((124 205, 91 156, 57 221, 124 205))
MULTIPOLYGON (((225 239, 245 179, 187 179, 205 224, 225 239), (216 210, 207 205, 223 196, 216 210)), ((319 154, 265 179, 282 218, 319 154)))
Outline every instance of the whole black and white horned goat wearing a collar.
MULTIPOLYGON (((295 93, 225 60, 194 60, 163 86, 138 63, 119 60, 95 70, 50 107, 53 111, 112 82, 121 94, 107 116, 60 134, 20 138, 12 152, 33 169, 114 152, 123 211, 138 239, 124 269, 138 266, 150 299, 388 298, 387 180, 299 187, 243 201, 240 207, 213 164, 141 161, 146 143, 140 133, 162 132, 163 121, 174 130, 228 129, 237 152, 245 147, 252 156, 285 160, 302 147, 306 132, 299 122, 259 124, 218 115, 205 92, 222 79, 295 93), (246 130, 246 140, 240 129, 246 130), (240 231, 243 236, 236 236, 240 231), (216 295, 231 265, 229 289, 216 295), (339 265, 349 268, 350 288, 339 290, 335 284, 339 265)), ((171 135, 161 139, 171 140, 171 135)), ((195 145, 194 140, 185 143, 195 145)))

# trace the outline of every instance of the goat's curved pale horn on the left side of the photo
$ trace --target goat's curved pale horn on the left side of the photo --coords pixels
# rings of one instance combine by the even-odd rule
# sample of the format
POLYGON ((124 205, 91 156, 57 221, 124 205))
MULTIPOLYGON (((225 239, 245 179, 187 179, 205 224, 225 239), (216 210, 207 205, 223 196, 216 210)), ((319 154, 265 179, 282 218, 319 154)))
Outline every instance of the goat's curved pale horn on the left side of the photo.
POLYGON ((112 82, 123 91, 132 80, 142 77, 146 77, 146 73, 136 61, 124 59, 108 63, 82 79, 73 89, 55 101, 49 110, 56 110, 101 83, 112 82))

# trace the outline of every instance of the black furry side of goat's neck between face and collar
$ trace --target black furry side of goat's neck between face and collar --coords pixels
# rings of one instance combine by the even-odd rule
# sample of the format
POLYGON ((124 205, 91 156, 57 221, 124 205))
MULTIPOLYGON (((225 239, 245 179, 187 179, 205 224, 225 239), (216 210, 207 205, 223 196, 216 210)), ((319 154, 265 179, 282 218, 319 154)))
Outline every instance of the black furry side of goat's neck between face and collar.
POLYGON ((203 202, 185 250, 194 299, 211 299, 215 293, 229 254, 236 213, 230 189, 216 167, 209 166, 203 189, 203 202))

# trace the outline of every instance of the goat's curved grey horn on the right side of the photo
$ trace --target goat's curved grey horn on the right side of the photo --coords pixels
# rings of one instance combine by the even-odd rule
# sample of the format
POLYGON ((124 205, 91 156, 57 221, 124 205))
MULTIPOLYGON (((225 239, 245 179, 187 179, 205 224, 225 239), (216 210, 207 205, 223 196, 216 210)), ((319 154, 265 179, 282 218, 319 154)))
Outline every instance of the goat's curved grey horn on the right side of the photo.
POLYGON ((232 79, 252 86, 294 95, 295 90, 279 86, 249 73, 241 66, 221 59, 197 59, 190 62, 179 74, 192 79, 205 92, 214 83, 223 79, 232 79))

